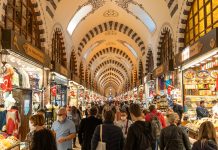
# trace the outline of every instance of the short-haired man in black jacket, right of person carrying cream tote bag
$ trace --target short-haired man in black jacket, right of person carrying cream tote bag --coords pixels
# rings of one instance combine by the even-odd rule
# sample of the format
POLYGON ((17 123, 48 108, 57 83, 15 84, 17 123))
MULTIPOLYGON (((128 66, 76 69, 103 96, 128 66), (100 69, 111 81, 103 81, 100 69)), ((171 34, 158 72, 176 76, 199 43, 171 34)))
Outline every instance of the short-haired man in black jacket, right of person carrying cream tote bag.
POLYGON ((145 122, 140 106, 131 104, 130 115, 134 123, 130 126, 125 150, 149 150, 151 149, 152 135, 150 123, 145 122))

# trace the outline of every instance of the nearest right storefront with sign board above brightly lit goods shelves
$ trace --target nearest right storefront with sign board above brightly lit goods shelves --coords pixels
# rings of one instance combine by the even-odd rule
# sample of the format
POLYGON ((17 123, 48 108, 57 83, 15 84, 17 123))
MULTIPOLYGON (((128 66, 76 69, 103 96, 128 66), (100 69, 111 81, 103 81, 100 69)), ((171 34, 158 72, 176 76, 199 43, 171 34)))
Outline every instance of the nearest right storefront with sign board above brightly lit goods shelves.
POLYGON ((200 101, 212 114, 212 102, 218 99, 218 30, 213 29, 180 55, 183 102, 188 116, 196 120, 196 107, 200 101))

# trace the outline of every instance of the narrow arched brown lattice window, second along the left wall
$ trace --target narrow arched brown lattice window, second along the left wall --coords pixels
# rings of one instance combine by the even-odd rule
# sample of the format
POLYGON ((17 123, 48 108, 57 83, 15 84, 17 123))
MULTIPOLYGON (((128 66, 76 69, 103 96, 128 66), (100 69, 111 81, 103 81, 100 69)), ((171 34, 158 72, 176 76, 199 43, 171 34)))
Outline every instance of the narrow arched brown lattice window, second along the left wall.
POLYGON ((52 38, 52 60, 66 67, 66 53, 63 36, 60 29, 56 29, 52 38))

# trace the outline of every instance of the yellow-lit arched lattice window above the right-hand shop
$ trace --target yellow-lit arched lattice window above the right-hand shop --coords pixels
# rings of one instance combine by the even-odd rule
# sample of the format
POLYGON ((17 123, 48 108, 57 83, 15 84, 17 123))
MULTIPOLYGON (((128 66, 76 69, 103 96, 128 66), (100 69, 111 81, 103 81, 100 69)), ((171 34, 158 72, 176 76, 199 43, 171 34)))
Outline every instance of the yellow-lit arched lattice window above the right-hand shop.
POLYGON ((186 26, 185 45, 204 36, 217 27, 218 1, 217 0, 195 0, 188 16, 186 26), (193 30, 194 28, 194 30, 193 30))

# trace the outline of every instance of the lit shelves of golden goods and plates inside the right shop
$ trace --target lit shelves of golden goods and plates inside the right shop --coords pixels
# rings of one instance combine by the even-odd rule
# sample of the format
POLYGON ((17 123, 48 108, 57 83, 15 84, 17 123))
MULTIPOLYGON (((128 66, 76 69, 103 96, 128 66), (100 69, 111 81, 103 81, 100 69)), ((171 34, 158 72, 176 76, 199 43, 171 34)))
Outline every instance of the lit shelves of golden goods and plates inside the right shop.
POLYGON ((213 101, 217 95, 217 57, 212 56, 199 64, 191 66, 183 73, 184 104, 188 108, 190 119, 196 119, 196 108, 200 101, 205 102, 205 107, 212 115, 213 101), (210 65, 209 65, 210 64, 210 65))

